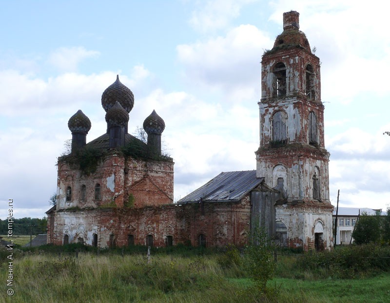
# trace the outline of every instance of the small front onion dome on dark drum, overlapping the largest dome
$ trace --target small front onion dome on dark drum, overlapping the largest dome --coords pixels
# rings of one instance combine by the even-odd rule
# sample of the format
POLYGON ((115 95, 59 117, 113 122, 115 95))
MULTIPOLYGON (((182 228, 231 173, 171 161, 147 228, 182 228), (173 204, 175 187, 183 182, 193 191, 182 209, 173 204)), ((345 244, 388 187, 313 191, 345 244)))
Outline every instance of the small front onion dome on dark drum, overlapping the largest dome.
POLYGON ((129 121, 128 112, 118 101, 106 113, 108 134, 110 135, 110 148, 125 144, 126 125, 129 121))

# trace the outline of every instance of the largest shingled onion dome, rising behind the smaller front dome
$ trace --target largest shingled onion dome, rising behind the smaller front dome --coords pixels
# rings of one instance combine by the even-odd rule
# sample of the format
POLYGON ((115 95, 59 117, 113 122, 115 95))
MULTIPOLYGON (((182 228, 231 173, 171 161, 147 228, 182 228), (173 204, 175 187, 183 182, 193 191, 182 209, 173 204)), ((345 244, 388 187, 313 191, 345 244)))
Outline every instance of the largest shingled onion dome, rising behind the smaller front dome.
POLYGON ((101 95, 101 105, 106 112, 114 106, 116 101, 119 101, 128 113, 134 106, 134 95, 126 85, 119 81, 119 75, 117 75, 117 81, 107 87, 101 95))

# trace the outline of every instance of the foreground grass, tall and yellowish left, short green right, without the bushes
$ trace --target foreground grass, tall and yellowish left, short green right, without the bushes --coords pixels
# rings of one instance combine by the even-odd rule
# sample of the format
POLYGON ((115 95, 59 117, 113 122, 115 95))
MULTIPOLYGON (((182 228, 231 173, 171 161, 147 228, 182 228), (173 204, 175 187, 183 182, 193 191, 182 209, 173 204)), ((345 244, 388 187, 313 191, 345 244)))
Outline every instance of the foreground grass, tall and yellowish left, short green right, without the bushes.
POLYGON ((388 272, 364 279, 313 281, 310 273, 302 279, 280 278, 295 259, 281 258, 279 277, 268 282, 264 295, 241 268, 222 268, 218 254, 154 255, 150 263, 143 255, 20 254, 13 260, 12 297, 6 295, 8 268, 1 265, 0 302, 390 302, 388 272))

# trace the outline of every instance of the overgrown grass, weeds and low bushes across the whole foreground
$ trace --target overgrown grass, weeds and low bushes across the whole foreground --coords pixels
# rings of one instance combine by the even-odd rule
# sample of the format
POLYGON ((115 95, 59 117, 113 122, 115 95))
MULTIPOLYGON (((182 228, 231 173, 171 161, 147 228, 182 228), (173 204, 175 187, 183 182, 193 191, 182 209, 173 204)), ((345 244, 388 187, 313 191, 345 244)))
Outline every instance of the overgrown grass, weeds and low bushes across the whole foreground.
POLYGON ((2 263, 0 302, 390 302, 389 266, 386 261, 377 263, 387 260, 388 251, 387 246, 351 246, 323 253, 283 252, 276 278, 261 293, 244 269, 245 258, 232 247, 226 252, 184 245, 155 248, 148 263, 144 246, 98 254, 80 244, 46 245, 39 250, 14 250, 12 297, 6 295, 8 268, 2 263), (61 254, 54 250, 59 247, 61 254), (80 251, 78 258, 75 250, 80 251), (370 258, 366 257, 369 251, 370 258), (352 253, 360 254, 372 268, 364 263, 356 271, 356 262, 361 261, 351 260, 352 253), (347 278, 348 268, 354 279, 340 279, 347 278))

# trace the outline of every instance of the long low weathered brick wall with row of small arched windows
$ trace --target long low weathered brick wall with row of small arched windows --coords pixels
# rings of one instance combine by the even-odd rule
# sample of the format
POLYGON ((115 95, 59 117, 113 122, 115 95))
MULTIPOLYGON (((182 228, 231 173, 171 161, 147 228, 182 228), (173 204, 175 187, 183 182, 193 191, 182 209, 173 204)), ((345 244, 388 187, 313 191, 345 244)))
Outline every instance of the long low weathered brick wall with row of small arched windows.
POLYGON ((247 195, 241 202, 166 204, 134 208, 95 208, 56 211, 53 228, 54 244, 61 245, 64 235, 69 242, 92 245, 94 234, 98 246, 106 247, 111 239, 117 246, 128 245, 128 236, 134 244, 146 245, 148 235, 154 246, 165 246, 166 237, 173 244, 198 245, 200 234, 205 235, 206 246, 243 245, 247 242, 250 222, 250 202, 247 195))

